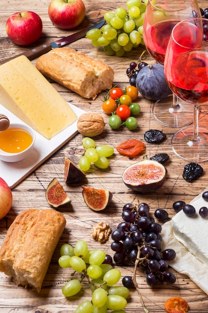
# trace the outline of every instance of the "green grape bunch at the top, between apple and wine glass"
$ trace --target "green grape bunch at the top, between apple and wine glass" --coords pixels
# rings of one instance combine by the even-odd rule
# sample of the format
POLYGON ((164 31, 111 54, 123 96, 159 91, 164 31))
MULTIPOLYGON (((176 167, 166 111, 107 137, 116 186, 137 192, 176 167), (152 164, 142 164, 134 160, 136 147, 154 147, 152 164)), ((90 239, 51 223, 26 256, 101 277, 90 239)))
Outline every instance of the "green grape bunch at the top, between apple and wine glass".
POLYGON ((106 23, 90 29, 86 36, 93 46, 102 46, 108 55, 123 56, 125 52, 144 45, 143 23, 147 1, 127 0, 127 9, 117 7, 104 14, 106 23))

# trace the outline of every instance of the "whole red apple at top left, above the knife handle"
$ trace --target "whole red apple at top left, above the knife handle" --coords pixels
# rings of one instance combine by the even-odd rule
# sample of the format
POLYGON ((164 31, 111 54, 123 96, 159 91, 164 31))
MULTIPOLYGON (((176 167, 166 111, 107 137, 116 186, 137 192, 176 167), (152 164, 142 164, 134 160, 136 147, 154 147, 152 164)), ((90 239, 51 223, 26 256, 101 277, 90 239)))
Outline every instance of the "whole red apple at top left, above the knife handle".
POLYGON ((39 39, 42 33, 42 20, 35 12, 16 12, 7 19, 6 32, 14 43, 27 45, 39 39))

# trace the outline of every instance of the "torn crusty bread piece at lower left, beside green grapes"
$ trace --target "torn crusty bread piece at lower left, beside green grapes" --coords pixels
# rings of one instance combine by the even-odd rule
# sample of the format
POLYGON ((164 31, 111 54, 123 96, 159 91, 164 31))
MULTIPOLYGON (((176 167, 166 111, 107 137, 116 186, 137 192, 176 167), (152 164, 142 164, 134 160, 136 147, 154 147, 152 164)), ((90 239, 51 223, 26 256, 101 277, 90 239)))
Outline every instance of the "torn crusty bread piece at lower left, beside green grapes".
POLYGON ((65 217, 53 209, 22 211, 0 247, 0 271, 39 292, 65 224, 65 217))

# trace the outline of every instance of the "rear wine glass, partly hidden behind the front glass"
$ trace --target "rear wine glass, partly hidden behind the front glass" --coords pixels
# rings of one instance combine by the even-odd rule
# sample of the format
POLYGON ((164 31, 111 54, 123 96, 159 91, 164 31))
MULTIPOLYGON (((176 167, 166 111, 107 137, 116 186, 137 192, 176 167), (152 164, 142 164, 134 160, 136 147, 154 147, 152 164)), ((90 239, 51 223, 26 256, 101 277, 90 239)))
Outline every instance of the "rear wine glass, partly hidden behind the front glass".
MULTIPOLYGON (((157 62, 164 64, 173 27, 189 17, 202 17, 197 0, 148 1, 143 38, 148 52, 157 62)), ((174 93, 156 101, 153 115, 161 124, 171 127, 183 127, 193 122, 190 106, 174 93)))

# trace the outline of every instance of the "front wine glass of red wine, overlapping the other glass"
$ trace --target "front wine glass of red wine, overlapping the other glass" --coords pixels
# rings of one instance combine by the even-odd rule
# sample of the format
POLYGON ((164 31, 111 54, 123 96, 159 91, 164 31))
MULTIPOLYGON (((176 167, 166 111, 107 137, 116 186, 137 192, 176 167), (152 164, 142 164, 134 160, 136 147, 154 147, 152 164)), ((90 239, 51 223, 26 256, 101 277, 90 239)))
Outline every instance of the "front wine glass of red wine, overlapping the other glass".
POLYGON ((173 28, 164 70, 171 90, 190 107, 194 107, 193 125, 176 132, 172 138, 172 148, 184 160, 206 161, 208 128, 199 126, 199 106, 208 101, 207 19, 189 18, 173 28))

